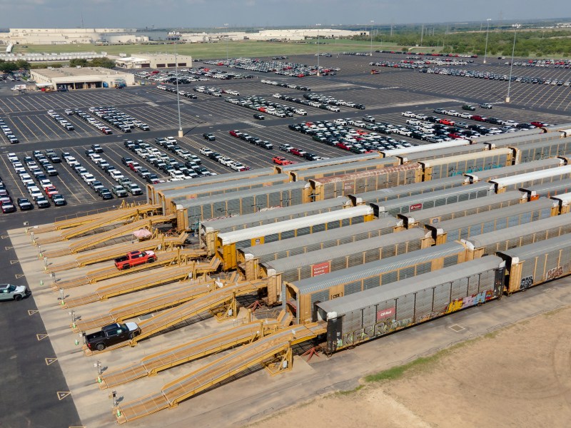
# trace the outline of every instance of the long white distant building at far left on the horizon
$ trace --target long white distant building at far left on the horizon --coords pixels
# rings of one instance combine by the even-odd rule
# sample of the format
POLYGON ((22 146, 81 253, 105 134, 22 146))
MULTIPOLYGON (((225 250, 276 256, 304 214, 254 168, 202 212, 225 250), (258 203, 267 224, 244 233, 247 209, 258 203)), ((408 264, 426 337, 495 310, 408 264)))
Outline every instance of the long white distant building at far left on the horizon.
POLYGON ((0 33, 4 44, 95 44, 148 41, 136 29, 10 29, 0 33))

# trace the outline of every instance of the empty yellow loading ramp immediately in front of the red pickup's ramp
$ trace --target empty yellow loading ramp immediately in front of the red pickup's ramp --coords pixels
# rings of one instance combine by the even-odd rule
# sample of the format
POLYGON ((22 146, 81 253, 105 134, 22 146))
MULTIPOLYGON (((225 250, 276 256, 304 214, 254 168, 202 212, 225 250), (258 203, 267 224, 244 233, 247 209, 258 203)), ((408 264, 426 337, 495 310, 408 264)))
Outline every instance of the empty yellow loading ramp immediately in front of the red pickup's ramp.
MULTIPOLYGON (((219 263, 219 261, 218 261, 219 263)), ((120 295, 126 295, 131 292, 136 292, 139 290, 144 290, 146 288, 156 287, 157 285, 168 284, 170 282, 176 282, 179 280, 184 280, 186 277, 193 273, 193 269, 196 266, 203 267, 205 264, 193 264, 182 267, 171 267, 168 270, 163 270, 161 272, 154 272, 145 277, 144 281, 140 278, 123 280, 116 284, 106 285, 105 287, 98 288, 95 292, 91 292, 87 295, 74 297, 72 299, 65 300, 66 304, 62 307, 76 307, 81 305, 87 305, 88 303, 98 302, 99 300, 107 300, 110 297, 116 297, 120 295)), ((216 260, 211 263, 210 266, 216 265, 216 260)), ((204 268, 206 270, 206 267, 204 268)))

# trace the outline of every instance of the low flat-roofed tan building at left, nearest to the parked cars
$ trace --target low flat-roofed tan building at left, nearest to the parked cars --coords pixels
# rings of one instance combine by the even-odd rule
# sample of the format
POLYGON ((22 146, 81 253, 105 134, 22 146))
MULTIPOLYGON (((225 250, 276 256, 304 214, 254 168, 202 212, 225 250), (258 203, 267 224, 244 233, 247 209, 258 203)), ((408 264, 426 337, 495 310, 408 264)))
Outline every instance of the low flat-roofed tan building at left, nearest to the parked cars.
POLYGON ((38 88, 49 88, 52 91, 112 88, 118 84, 126 86, 135 84, 133 74, 102 67, 39 68, 30 70, 30 73, 38 88))

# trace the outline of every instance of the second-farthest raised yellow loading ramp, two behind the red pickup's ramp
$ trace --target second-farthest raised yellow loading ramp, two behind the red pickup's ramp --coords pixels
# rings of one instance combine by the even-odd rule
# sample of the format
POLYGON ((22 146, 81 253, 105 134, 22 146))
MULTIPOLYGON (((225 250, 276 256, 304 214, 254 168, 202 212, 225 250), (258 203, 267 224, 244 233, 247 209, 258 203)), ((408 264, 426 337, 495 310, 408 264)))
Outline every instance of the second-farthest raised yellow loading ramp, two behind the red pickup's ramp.
POLYGON ((93 248, 101 243, 105 243, 106 241, 111 240, 113 238, 118 238, 123 235, 129 235, 135 232, 136 230, 142 228, 152 228, 152 225, 154 224, 168 223, 169 221, 172 221, 174 219, 175 219, 174 215, 153 215, 152 217, 149 218, 143 218, 142 220, 137 220, 134 221, 133 223, 121 225, 118 228, 113 228, 111 230, 106 230, 105 232, 102 233, 96 233, 86 238, 76 240, 75 242, 70 243, 68 248, 60 248, 58 250, 44 251, 44 255, 47 258, 56 258, 64 255, 79 253, 81 251, 89 250, 90 248, 93 248))

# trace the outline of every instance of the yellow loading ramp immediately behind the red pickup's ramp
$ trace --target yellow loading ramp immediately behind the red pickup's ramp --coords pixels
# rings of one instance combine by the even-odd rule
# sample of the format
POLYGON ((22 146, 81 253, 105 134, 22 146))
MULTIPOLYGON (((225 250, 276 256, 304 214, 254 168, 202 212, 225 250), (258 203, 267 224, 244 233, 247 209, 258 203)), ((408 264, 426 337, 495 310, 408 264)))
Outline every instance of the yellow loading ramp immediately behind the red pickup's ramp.
MULTIPOLYGON (((103 248, 101 250, 92 250, 87 254, 80 254, 76 256, 76 260, 67 262, 67 263, 60 263, 59 265, 49 265, 48 271, 49 272, 61 272, 64 270, 74 269, 75 267, 84 267, 88 265, 94 265, 95 263, 105 262, 107 260, 113 260, 115 258, 121 257, 121 255, 125 255, 126 253, 134 250, 158 250, 159 248, 163 250, 173 250, 176 247, 180 247, 184 244, 184 241, 188 237, 188 233, 182 233, 177 237, 165 237, 161 235, 160 238, 151 239, 151 240, 141 240, 136 243, 128 243, 125 245, 121 245, 116 248, 103 248)), ((193 253, 195 257, 193 258, 201 258, 206 255, 206 250, 200 250, 198 248, 193 249, 193 253)))

